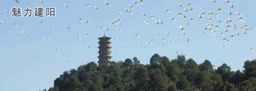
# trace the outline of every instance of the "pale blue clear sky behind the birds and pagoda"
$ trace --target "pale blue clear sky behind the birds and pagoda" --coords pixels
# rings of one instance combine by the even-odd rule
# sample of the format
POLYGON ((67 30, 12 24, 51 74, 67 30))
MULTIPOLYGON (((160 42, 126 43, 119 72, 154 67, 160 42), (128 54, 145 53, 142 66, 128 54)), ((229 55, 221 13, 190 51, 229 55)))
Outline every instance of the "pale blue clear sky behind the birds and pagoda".
POLYGON ((76 69, 80 65, 88 62, 98 62, 98 37, 116 36, 119 39, 112 38, 112 61, 125 60, 126 58, 138 57, 141 63, 149 63, 149 58, 158 53, 161 56, 167 56, 170 60, 175 59, 179 54, 184 54, 186 58, 193 58, 198 64, 204 60, 210 60, 215 68, 226 63, 232 70, 243 70, 244 61, 256 58, 256 51, 250 48, 256 48, 256 31, 246 31, 248 34, 242 34, 240 26, 247 24, 250 28, 256 29, 254 21, 256 20, 254 11, 255 0, 231 0, 234 8, 229 8, 229 3, 225 0, 144 0, 143 5, 134 5, 132 0, 107 0, 112 7, 105 5, 104 0, 45 0, 46 3, 40 3, 40 0, 19 0, 17 5, 12 0, 3 0, 0 3, 0 91, 37 91, 49 89, 53 86, 54 80, 59 77, 63 71, 76 69), (194 10, 184 12, 188 9, 187 2, 192 4, 194 10), (69 7, 65 8, 64 3, 69 7), (89 3, 91 7, 85 5, 89 3), (183 7, 178 7, 178 3, 183 7), (134 10, 129 8, 134 6, 134 10), (95 10, 94 6, 99 7, 95 10), (55 7, 56 17, 11 17, 12 7, 55 7), (133 15, 124 12, 124 7, 132 10, 133 15), (217 11, 217 7, 222 8, 222 12, 217 11), (120 14, 116 10, 122 10, 120 14), (164 9, 171 10, 171 13, 165 12, 164 9), (4 10, 9 10, 6 13, 4 10), (219 17, 206 16, 198 19, 200 12, 218 13, 219 17), (231 11, 233 15, 227 15, 231 11), (178 12, 183 13, 188 19, 183 19, 178 12), (238 20, 236 13, 241 13, 244 22, 238 20), (142 13, 147 14, 146 17, 142 13), (154 15, 155 19, 161 19, 164 23, 156 25, 154 20, 149 18, 154 15), (122 25, 112 25, 110 22, 116 18, 121 19, 122 25), (175 17, 177 21, 171 21, 175 17), (194 22, 189 21, 193 17, 194 22), (211 17, 212 22, 207 18, 211 17), (78 18, 89 20, 91 24, 81 23, 78 18), (224 20, 232 19, 229 25, 236 24, 238 29, 229 29, 225 36, 219 35, 224 32, 226 23, 224 20), (39 20, 44 23, 39 24, 39 20), (149 25, 144 21, 148 20, 149 25), (222 20, 218 24, 217 20, 222 20), (186 22, 190 26, 186 26, 186 22), (13 26, 12 24, 17 24, 13 26), (47 26, 47 23, 53 24, 54 27, 47 26), (214 35, 210 31, 202 34, 203 27, 206 24, 218 24, 219 29, 214 35), (182 25, 186 33, 182 35, 179 26, 182 25), (70 26, 71 31, 65 27, 70 26), (107 26, 110 30, 100 29, 100 26, 107 26), (117 30, 123 29, 123 31, 117 30), (16 34, 10 33, 16 31, 16 34), (27 34, 21 34, 20 31, 28 31, 27 34), (86 35, 83 31, 89 31, 92 34, 86 35), (55 33, 61 33, 57 36, 55 33), (77 35, 80 32, 81 35, 77 35), (172 35, 166 35, 166 32, 172 35), (240 36, 235 39, 229 37, 239 32, 240 36), (136 37, 140 34, 140 38, 136 37), (52 40, 46 40, 44 37, 50 37, 52 40), (76 40, 76 38, 81 38, 76 40), (153 38, 156 42, 153 45, 146 44, 153 38), (162 41, 171 39, 173 42, 162 41), (186 38, 191 40, 191 44, 186 43, 186 38), (229 38, 230 43, 223 41, 222 38, 229 38), (143 43, 145 46, 140 46, 143 43), (160 45, 166 45, 161 47, 160 45), (93 47, 88 49, 86 45, 93 47), (223 48, 220 45, 226 45, 223 48), (44 50, 47 48, 48 50, 44 50), (59 48, 60 50, 54 50, 59 48), (123 52, 127 50, 128 52, 123 52), (65 61, 63 57, 68 58, 65 61))

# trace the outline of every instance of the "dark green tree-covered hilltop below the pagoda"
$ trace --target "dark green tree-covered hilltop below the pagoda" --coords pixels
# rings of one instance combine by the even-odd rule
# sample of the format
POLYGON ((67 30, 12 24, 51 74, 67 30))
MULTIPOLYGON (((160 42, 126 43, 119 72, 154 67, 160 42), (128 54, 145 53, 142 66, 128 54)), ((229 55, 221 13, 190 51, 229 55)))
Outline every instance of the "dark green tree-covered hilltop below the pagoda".
POLYGON ((256 91, 256 60, 235 72, 227 64, 213 69, 209 60, 198 65, 184 55, 169 60, 154 54, 149 65, 137 57, 109 67, 90 62, 63 72, 48 91, 256 91))

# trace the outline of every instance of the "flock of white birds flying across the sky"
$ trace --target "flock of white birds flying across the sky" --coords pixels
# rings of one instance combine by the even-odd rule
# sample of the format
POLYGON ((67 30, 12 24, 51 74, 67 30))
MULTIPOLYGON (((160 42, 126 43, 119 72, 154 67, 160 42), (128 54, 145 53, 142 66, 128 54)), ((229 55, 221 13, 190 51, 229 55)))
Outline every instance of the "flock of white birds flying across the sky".
MULTIPOLYGON (((15 0, 14 2, 17 3, 17 4, 20 4, 19 0, 15 0)), ((40 2, 41 3, 46 3, 45 0, 40 0, 40 2)), ((216 10, 205 11, 205 12, 198 12, 198 17, 187 17, 185 12, 190 12, 190 11, 194 10, 193 4, 190 3, 190 2, 187 2, 186 5, 182 5, 182 4, 179 4, 179 3, 177 4, 177 8, 183 8, 183 7, 187 6, 187 7, 184 8, 184 11, 180 11, 180 12, 177 12, 177 13, 176 12, 171 12, 171 10, 169 10, 169 9, 164 9, 162 11, 166 12, 166 13, 176 13, 176 16, 171 16, 171 18, 169 19, 170 22, 176 22, 176 19, 177 19, 176 17, 180 17, 181 19, 185 19, 186 21, 190 21, 190 22, 195 21, 195 19, 197 19, 197 20, 203 20, 203 19, 208 20, 209 23, 205 24, 205 26, 202 27, 202 34, 206 34, 207 32, 211 32, 214 35, 219 34, 219 35, 221 35, 223 37, 222 40, 226 41, 227 43, 231 42, 232 39, 235 39, 236 36, 240 36, 241 34, 247 34, 247 31, 251 31, 252 30, 247 24, 244 24, 243 26, 236 25, 237 22, 234 22, 235 19, 231 19, 231 18, 227 18, 226 20, 215 20, 215 19, 213 19, 212 17, 219 17, 219 16, 221 16, 221 15, 218 14, 219 12, 227 12, 228 16, 236 16, 237 17, 236 19, 240 20, 239 22, 244 22, 244 19, 243 19, 243 16, 242 16, 241 13, 239 13, 239 12, 235 12, 235 13, 231 12, 232 9, 234 9, 236 6, 233 5, 230 0, 225 0, 225 1, 224 0, 212 0, 212 3, 216 3, 216 2, 227 3, 229 5, 229 6, 227 5, 228 9, 224 10, 224 9, 222 9, 222 7, 216 7, 216 10), (224 30, 219 30, 220 27, 221 27, 220 24, 225 24, 226 25, 224 27, 224 30), (233 33, 233 31, 235 31, 235 32, 233 33), (230 34, 230 35, 227 35, 227 34, 230 34)), ((109 7, 112 7, 111 2, 108 2, 108 1, 105 0, 105 2, 102 2, 102 3, 105 3, 105 5, 107 5, 109 7)), ((127 7, 124 7, 123 9, 117 9, 116 12, 117 13, 128 13, 128 14, 133 15, 134 14, 133 10, 136 10, 134 8, 134 6, 137 5, 139 7, 139 6, 143 5, 143 4, 144 4, 144 0, 136 0, 136 1, 133 0, 133 1, 131 1, 131 3, 129 5, 127 5, 127 7)), ((64 3, 63 5, 64 5, 63 6, 64 8, 69 8, 70 7, 66 3, 64 3)), ((89 3, 85 4, 85 7, 86 8, 91 8, 91 4, 89 4, 89 3)), ((95 10, 100 10, 100 8, 97 7, 97 6, 94 6, 94 8, 95 8, 95 10)), ((4 11, 9 13, 8 10, 4 10, 4 11)), ((156 19, 153 14, 147 15, 146 13, 142 13, 141 17, 148 17, 148 19, 153 20, 153 21, 145 20, 144 23, 146 25, 149 25, 149 24, 160 25, 160 24, 164 23, 163 20, 156 19)), ((80 17, 78 17, 77 20, 78 20, 78 22, 81 22, 81 23, 91 24, 91 22, 89 20, 84 20, 84 19, 82 19, 80 17)), ((39 24, 45 23, 42 20, 39 20, 38 22, 39 22, 39 24)), ((0 25, 2 25, 2 24, 4 24, 4 22, 0 21, 0 25)), ((117 30, 123 31, 123 29, 121 29, 119 27, 119 25, 123 24, 121 22, 121 19, 119 19, 119 18, 113 19, 110 22, 110 24, 112 24, 113 26, 117 26, 117 28, 116 28, 117 30)), ((15 24, 15 23, 13 23, 12 25, 15 26, 15 27, 18 27, 18 25, 15 24)), ((47 23, 47 25, 49 27, 54 27, 54 25, 50 24, 50 23, 47 23)), ((192 25, 193 24, 190 24, 188 22, 185 23, 185 26, 192 26, 192 25)), ((108 26, 99 26, 99 27, 100 27, 100 29, 105 30, 105 31, 109 31, 110 30, 110 28, 108 26)), ((72 31, 72 27, 71 26, 65 26, 65 27, 63 26, 63 29, 64 28, 67 31, 72 31)), ((187 34, 187 32, 186 32, 187 29, 185 29, 183 25, 180 25, 179 29, 176 28, 176 30, 180 31, 182 35, 186 35, 187 34)), ((92 34, 89 31, 83 31, 83 32, 86 35, 92 34)), ((10 31, 10 33, 15 34, 15 33, 17 33, 17 31, 10 31)), ((27 34, 29 32, 28 31, 20 31, 20 33, 25 35, 25 34, 27 34)), ((55 33, 55 34, 57 36, 61 36, 60 33, 55 33)), ((76 32, 76 34, 80 35, 81 33, 76 32)), ((165 34, 168 35, 168 36, 172 35, 171 33, 165 33, 165 34)), ((137 37, 137 38, 141 37, 140 34, 135 34, 134 36, 137 37)), ((117 40, 119 39, 116 36, 112 36, 112 38, 117 39, 117 40)), ((52 40, 50 37, 44 37, 44 39, 52 40)), ((79 40, 79 39, 81 39, 81 38, 79 38, 79 37, 76 38, 76 40, 79 40)), ((148 45, 148 44, 149 45, 153 45, 156 41, 157 40, 155 40, 153 38, 150 38, 149 41, 145 41, 146 44, 141 43, 140 46, 143 47, 143 46, 148 45)), ((166 39, 166 38, 162 38, 162 41, 173 42, 174 40, 169 40, 169 39, 166 39)), ((190 38, 186 38, 186 40, 184 40, 184 41, 186 43, 188 43, 188 44, 192 44, 193 43, 193 41, 190 40, 190 38)), ((161 44, 160 46, 161 47, 167 47, 166 45, 163 45, 163 44, 161 44)), ((225 44, 220 45, 220 46, 224 47, 224 48, 227 48, 227 46, 225 44)), ((87 45, 87 48, 88 49, 93 49, 93 47, 91 47, 90 45, 87 45)), ((253 50, 253 51, 255 50, 254 48, 248 48, 248 49, 249 50, 253 50)), ((43 50, 48 50, 48 49, 43 47, 43 50)), ((60 49, 59 48, 55 48, 55 50, 60 50, 60 49)), ((122 51, 123 52, 128 52, 127 50, 122 50, 122 51)), ((176 53, 179 53, 178 50, 176 51, 176 53)), ((63 57, 63 59, 64 60, 69 60, 66 57, 63 57)))

